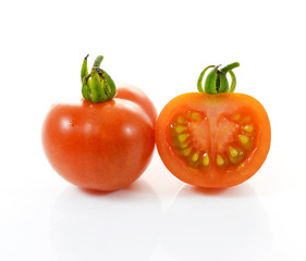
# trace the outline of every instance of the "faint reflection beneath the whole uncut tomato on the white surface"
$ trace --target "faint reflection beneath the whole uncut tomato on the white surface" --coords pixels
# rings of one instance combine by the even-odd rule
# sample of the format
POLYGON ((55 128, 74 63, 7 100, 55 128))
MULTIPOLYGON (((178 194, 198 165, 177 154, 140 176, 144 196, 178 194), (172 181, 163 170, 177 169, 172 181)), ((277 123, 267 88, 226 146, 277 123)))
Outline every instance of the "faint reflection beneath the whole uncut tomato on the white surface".
POLYGON ((159 199, 145 181, 113 192, 70 186, 51 213, 51 243, 59 260, 143 261, 157 246, 160 217, 159 199))

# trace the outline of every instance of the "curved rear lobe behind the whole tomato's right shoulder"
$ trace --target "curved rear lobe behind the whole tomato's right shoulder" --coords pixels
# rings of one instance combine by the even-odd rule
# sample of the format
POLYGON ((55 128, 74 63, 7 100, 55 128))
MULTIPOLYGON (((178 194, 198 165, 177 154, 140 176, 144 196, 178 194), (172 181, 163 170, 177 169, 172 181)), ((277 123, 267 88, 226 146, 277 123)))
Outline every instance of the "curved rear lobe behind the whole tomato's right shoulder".
POLYGON ((149 115, 154 125, 156 124, 157 120, 157 111, 149 99, 149 97, 138 89, 137 87, 130 85, 130 84, 117 84, 117 95, 115 98, 131 100, 142 107, 144 111, 149 115))

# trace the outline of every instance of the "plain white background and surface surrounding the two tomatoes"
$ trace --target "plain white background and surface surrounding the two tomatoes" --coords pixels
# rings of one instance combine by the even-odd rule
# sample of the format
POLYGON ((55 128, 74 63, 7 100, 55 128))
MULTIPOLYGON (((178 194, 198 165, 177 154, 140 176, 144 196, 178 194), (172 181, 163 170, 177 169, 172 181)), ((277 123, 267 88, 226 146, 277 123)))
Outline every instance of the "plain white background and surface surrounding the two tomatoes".
POLYGON ((306 260, 304 1, 1 1, 0 260, 306 260), (131 187, 86 194, 49 165, 49 107, 81 96, 103 54, 158 111, 209 64, 240 62, 236 92, 265 105, 270 153, 225 190, 184 185, 158 153, 131 187))

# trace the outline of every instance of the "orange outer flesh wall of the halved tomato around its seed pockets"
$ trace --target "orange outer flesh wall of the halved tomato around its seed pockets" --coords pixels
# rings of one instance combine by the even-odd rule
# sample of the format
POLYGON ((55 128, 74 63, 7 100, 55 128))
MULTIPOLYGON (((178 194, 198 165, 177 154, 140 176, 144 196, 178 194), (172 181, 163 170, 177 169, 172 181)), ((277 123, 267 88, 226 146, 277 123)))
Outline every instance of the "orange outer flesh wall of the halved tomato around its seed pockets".
MULTIPOLYGON (((211 124, 209 125, 211 127, 211 124)), ((234 125, 235 126, 235 125, 234 125)), ((197 137, 195 137, 197 139, 197 137)), ((255 98, 242 94, 207 95, 189 92, 171 100, 161 111, 156 124, 156 145, 167 169, 179 179, 199 187, 222 188, 241 184, 252 177, 265 162, 270 148, 271 129, 264 107, 255 98), (218 122, 222 113, 247 113, 256 127, 256 139, 241 169, 218 167, 216 147, 220 141, 211 138, 218 129, 210 129, 208 144, 211 145, 209 167, 193 167, 180 157, 171 140, 171 125, 175 116, 186 112, 205 112, 208 120, 218 122)))

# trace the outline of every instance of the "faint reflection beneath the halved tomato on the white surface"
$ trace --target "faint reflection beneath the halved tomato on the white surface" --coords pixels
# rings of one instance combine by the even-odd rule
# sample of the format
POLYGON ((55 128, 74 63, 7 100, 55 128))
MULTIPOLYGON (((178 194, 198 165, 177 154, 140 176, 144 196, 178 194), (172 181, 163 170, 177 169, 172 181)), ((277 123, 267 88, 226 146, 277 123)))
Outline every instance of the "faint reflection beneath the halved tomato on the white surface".
POLYGON ((174 260, 259 260, 271 247, 269 220, 247 184, 184 186, 166 213, 161 244, 174 260))

